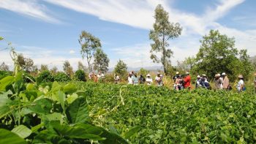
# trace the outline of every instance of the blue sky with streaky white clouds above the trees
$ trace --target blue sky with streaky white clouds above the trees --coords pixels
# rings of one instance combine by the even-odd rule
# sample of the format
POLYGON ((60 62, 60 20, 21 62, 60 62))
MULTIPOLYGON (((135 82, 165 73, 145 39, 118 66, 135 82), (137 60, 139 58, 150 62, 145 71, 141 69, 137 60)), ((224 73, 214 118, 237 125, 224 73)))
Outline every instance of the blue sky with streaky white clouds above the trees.
POLYGON ((157 67, 150 59, 148 32, 154 9, 162 4, 172 23, 180 23, 181 36, 170 40, 172 64, 195 56, 200 39, 211 29, 235 37, 236 48, 256 56, 255 0, 0 0, 0 63, 12 67, 7 42, 34 64, 62 70, 68 60, 74 69, 86 63, 78 42, 81 31, 98 37, 110 58, 128 67, 157 67))

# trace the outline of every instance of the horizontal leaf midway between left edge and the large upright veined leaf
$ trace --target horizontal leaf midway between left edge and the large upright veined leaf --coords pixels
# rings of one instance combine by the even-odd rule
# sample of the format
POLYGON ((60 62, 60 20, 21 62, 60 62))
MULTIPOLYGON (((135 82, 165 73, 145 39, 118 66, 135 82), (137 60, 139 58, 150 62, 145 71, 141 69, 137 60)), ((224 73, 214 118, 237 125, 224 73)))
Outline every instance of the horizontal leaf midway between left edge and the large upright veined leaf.
POLYGON ((32 102, 31 105, 28 106, 28 108, 34 113, 48 114, 53 108, 53 101, 46 98, 38 99, 37 101, 32 102))

